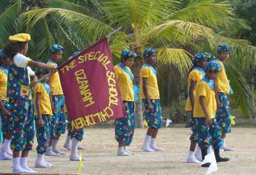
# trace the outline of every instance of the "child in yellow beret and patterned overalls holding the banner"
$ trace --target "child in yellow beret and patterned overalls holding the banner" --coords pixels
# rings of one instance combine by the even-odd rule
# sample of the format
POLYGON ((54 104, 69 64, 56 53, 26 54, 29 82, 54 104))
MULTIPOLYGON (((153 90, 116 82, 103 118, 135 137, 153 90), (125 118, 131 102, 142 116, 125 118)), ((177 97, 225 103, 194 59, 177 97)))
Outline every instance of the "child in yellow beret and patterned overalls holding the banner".
POLYGON ((31 106, 30 79, 28 66, 48 68, 54 72, 55 68, 45 63, 33 61, 26 57, 30 35, 15 34, 9 37, 10 43, 4 47, 4 54, 10 57, 8 66, 7 98, 9 98, 10 114, 13 118, 13 149, 12 172, 35 172, 28 167, 28 153, 33 146, 34 117, 31 106), (22 151, 20 158, 20 151, 22 151))

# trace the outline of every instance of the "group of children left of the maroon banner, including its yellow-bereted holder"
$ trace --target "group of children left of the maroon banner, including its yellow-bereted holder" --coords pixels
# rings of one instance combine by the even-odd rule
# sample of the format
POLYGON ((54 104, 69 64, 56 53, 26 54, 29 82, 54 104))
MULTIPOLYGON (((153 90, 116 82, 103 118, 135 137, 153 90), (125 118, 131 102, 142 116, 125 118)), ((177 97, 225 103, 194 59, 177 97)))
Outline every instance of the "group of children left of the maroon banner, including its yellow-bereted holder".
MULTIPOLYGON (((0 113, 4 138, 0 160, 12 159, 12 172, 35 172, 27 164, 35 132, 38 142, 35 167, 52 166, 45 161, 44 155, 63 155, 57 144, 61 133, 65 133, 67 109, 56 72, 63 47, 52 45, 50 59, 41 63, 26 57, 30 39, 29 34, 15 34, 0 51, 0 113), (34 67, 35 72, 30 67, 34 67), (47 75, 49 73, 51 75, 47 75)), ((71 138, 67 137, 64 147, 71 149, 70 160, 77 161, 78 141, 83 139, 83 130, 68 128, 68 133, 71 138)))

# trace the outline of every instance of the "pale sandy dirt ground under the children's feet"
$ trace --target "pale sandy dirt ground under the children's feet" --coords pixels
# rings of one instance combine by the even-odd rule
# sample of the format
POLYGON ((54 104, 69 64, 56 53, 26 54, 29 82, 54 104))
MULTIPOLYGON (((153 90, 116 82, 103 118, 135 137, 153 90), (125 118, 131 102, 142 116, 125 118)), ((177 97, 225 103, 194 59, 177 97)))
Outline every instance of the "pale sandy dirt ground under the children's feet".
MULTIPOLYGON (((137 129, 130 150, 133 156, 116 156, 117 143, 113 128, 86 128, 81 143, 87 150, 82 151, 81 174, 205 174, 207 169, 198 164, 186 164, 189 148, 189 128, 163 128, 159 130, 157 145, 164 152, 145 153, 140 150, 145 129, 137 129)), ((66 155, 45 156, 54 165, 50 169, 35 169, 44 173, 77 174, 78 162, 68 160, 69 151, 63 148, 66 135, 61 137, 59 148, 66 155)), ((230 162, 218 164, 218 171, 212 174, 256 174, 256 128, 233 128, 227 135, 227 145, 232 152, 221 152, 230 162)), ((35 142, 36 146, 36 142, 35 142)), ((29 165, 34 167, 35 146, 29 156, 29 165)), ((0 172, 11 172, 12 161, 0 161, 0 172)))

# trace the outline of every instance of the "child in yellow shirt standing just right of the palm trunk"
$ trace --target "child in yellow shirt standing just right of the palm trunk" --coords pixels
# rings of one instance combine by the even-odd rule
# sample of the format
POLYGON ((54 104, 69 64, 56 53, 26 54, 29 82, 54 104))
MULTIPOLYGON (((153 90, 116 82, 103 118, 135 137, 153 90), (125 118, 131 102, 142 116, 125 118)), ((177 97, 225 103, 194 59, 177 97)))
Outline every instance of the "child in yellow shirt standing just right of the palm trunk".
POLYGON ((146 63, 140 70, 140 98, 143 100, 143 116, 148 123, 148 130, 141 149, 149 152, 163 151, 163 149, 156 147, 157 132, 162 127, 162 111, 157 85, 157 72, 153 67, 157 60, 157 50, 148 47, 143 51, 143 57, 146 63))

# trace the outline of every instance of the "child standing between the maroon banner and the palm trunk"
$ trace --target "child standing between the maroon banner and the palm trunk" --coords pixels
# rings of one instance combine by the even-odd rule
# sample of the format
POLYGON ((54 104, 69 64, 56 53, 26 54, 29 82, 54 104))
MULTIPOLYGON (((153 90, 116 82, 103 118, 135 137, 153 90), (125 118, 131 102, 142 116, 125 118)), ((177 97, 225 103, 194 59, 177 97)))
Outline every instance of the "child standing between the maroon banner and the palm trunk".
POLYGON ((137 55, 131 50, 123 50, 121 63, 115 68, 115 75, 124 103, 126 116, 115 119, 115 139, 118 142, 118 156, 131 156, 133 153, 126 148, 132 142, 135 127, 134 91, 132 86, 133 74, 130 70, 134 57, 137 55))

